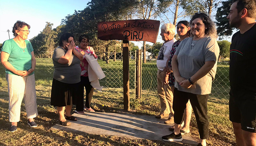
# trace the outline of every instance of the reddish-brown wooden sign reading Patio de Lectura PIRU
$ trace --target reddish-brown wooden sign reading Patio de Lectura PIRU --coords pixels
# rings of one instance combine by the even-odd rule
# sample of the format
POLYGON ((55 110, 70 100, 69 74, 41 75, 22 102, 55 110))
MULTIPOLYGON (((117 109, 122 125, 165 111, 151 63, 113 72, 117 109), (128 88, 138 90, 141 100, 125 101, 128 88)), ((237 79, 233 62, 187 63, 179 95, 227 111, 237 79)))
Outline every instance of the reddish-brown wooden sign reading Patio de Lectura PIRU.
POLYGON ((98 22, 98 38, 156 43, 159 25, 160 21, 147 19, 98 22))

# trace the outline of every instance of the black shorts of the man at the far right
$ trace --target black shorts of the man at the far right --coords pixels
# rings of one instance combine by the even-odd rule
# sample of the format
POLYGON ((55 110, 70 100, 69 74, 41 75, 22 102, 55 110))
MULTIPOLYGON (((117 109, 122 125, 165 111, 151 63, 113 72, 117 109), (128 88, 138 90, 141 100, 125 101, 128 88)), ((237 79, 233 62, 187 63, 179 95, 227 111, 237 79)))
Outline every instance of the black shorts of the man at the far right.
POLYGON ((241 123, 242 130, 256 133, 256 100, 229 97, 229 120, 241 123))

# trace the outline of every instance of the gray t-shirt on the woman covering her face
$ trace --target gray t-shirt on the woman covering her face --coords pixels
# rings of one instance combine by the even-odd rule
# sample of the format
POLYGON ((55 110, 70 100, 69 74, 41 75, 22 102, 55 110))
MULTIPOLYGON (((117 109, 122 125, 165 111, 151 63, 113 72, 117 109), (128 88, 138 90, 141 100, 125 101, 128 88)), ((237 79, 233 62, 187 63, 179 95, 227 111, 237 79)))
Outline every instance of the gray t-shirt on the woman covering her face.
POLYGON ((80 60, 72 53, 68 64, 60 64, 58 60, 64 56, 67 50, 58 46, 52 56, 53 61, 53 78, 63 83, 74 84, 80 82, 81 67, 80 60))

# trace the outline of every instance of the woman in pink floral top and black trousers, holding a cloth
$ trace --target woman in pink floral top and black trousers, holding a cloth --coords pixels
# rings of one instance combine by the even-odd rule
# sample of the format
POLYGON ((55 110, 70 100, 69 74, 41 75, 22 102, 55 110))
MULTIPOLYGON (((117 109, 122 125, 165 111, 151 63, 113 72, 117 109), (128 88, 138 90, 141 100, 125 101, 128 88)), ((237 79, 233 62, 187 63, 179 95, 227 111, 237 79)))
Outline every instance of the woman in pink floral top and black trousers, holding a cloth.
MULTIPOLYGON (((76 46, 76 50, 78 52, 81 52, 83 55, 90 54, 90 55, 93 55, 95 59, 97 58, 93 48, 88 46, 89 38, 87 35, 84 35, 84 34, 81 35, 79 37, 79 43, 80 45, 76 46)), ((75 110, 77 114, 84 114, 84 110, 94 112, 94 110, 90 107, 94 88, 92 87, 91 82, 89 81, 88 72, 87 72, 88 65, 89 64, 85 58, 80 62, 80 67, 82 72, 80 76, 81 81, 78 87, 79 97, 77 99, 76 110, 75 110), (84 87, 86 91, 85 106, 84 106, 84 87)))

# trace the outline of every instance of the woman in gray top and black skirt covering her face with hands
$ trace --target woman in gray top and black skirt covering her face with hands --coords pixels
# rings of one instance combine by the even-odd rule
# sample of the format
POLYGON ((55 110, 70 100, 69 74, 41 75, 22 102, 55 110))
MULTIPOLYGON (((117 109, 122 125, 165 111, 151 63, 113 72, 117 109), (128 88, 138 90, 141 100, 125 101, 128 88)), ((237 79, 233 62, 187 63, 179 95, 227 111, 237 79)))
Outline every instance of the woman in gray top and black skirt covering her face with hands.
POLYGON ((74 36, 64 33, 52 56, 54 73, 51 93, 51 105, 57 107, 60 124, 64 126, 71 124, 67 120, 77 120, 76 117, 71 116, 70 111, 77 96, 81 75, 80 61, 83 58, 83 55, 75 49, 74 36))

